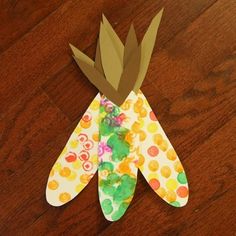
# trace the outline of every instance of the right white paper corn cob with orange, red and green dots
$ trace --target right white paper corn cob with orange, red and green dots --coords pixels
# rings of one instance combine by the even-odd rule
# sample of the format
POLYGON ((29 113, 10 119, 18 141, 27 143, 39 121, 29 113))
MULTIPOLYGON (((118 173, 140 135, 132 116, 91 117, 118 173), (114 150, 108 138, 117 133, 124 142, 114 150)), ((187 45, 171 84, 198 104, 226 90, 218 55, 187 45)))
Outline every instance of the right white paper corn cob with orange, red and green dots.
MULTIPOLYGON (((144 95, 139 92, 139 104, 146 112, 140 130, 145 139, 139 143, 139 169, 151 188, 168 204, 182 207, 188 201, 188 182, 184 168, 168 137, 144 95)), ((144 112, 143 112, 144 113, 144 112)))

